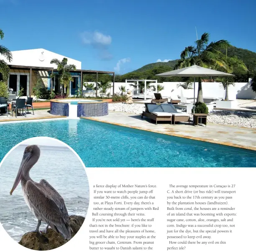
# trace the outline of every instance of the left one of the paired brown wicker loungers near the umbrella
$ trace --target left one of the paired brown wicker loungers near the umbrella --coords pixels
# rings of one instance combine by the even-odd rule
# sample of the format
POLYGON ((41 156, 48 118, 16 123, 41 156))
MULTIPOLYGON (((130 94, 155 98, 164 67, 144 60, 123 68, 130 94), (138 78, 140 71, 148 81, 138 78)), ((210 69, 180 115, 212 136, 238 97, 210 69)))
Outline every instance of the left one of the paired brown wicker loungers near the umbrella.
POLYGON ((145 103, 145 107, 146 111, 142 112, 141 118, 148 117, 156 121, 156 124, 159 121, 170 121, 172 124, 172 114, 164 112, 160 104, 145 103))

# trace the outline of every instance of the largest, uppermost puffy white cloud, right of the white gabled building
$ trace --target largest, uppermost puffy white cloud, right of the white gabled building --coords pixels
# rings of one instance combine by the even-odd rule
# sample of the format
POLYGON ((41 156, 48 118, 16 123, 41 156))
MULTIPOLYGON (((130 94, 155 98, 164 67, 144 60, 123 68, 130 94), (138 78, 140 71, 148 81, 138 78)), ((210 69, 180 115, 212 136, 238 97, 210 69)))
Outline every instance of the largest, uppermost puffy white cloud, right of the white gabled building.
POLYGON ((87 45, 92 45, 95 47, 99 46, 109 46, 112 42, 112 38, 110 35, 104 35, 98 31, 94 31, 93 33, 85 31, 81 33, 82 42, 87 45))

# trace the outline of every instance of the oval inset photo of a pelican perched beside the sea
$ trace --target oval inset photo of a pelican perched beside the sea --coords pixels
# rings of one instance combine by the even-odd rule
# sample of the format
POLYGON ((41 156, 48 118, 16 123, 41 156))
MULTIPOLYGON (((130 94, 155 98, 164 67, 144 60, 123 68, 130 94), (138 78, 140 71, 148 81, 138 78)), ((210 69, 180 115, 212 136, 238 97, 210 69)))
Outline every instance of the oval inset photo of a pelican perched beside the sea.
POLYGON ((73 239, 86 217, 90 190, 85 165, 69 145, 51 137, 26 139, 5 155, 0 172, 0 223, 16 244, 49 250, 73 239), (39 232, 31 232, 38 219, 39 232))

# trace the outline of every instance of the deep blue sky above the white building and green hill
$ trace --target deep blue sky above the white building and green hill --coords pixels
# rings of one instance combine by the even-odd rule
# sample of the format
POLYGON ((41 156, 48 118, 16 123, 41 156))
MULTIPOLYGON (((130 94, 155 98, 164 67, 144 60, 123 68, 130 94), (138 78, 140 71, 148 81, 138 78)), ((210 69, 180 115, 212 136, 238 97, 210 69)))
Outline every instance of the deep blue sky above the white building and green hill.
POLYGON ((44 48, 82 61, 82 69, 123 74, 178 59, 210 40, 256 51, 256 1, 0 0, 0 43, 11 51, 44 48), (238 4, 239 3, 239 4, 238 4))

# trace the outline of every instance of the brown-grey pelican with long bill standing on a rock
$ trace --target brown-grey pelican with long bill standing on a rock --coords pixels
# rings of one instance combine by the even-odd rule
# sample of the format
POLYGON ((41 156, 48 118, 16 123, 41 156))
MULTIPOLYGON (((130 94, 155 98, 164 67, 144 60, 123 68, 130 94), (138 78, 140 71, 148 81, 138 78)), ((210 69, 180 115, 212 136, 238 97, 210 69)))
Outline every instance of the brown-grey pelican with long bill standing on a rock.
POLYGON ((71 227, 69 226, 69 215, 63 198, 59 193, 44 179, 39 183, 33 181, 29 176, 29 171, 36 164, 40 157, 40 149, 37 145, 28 145, 23 153, 18 174, 15 178, 12 195, 15 188, 21 183, 23 196, 30 211, 38 219, 36 230, 41 235, 39 227, 41 221, 47 223, 44 233, 50 226, 64 239, 71 239, 71 227))

